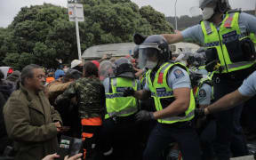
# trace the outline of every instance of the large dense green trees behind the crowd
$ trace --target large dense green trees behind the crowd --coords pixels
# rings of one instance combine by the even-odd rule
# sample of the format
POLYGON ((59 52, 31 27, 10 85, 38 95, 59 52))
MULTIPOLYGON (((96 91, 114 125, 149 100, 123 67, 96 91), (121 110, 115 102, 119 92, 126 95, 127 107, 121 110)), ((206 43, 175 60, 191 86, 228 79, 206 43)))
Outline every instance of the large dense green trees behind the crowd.
MULTIPOLYGON (((82 52, 96 44, 132 42, 143 35, 172 32, 164 14, 131 0, 84 0, 84 22, 79 22, 82 52)), ((75 22, 68 10, 52 4, 21 8, 8 28, 0 28, 0 65, 20 69, 30 63, 57 68, 77 59, 75 22)))

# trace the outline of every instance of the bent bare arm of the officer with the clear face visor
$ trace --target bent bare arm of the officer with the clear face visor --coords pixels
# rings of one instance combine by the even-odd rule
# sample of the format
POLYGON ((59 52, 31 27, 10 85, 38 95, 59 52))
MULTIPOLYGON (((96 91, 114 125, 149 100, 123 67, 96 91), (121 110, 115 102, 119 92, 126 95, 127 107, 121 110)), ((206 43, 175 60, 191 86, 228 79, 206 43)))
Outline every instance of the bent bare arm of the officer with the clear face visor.
POLYGON ((175 100, 163 110, 154 112, 155 119, 178 116, 185 112, 190 103, 190 88, 177 88, 173 90, 175 100))

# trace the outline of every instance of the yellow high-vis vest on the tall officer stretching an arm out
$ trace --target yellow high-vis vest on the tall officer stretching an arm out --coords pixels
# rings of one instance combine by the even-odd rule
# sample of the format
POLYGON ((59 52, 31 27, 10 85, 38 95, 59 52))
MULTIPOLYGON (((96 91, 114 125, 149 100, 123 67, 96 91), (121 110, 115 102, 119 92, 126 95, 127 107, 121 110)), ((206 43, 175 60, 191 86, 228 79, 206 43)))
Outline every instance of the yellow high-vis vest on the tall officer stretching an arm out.
MULTIPOLYGON (((239 12, 233 12, 226 14, 225 19, 220 25, 220 31, 215 28, 212 22, 202 21, 201 27, 204 34, 204 46, 206 48, 216 48, 218 52, 218 57, 220 60, 220 68, 222 68, 221 73, 233 72, 236 70, 250 68, 255 63, 255 61, 241 61, 241 62, 232 62, 229 58, 228 49, 226 44, 232 42, 237 38, 241 41, 248 36, 246 33, 241 33, 238 24, 239 12), (236 36, 227 36, 223 38, 224 35, 236 33, 236 36)), ((217 71, 216 73, 218 73, 217 71)))

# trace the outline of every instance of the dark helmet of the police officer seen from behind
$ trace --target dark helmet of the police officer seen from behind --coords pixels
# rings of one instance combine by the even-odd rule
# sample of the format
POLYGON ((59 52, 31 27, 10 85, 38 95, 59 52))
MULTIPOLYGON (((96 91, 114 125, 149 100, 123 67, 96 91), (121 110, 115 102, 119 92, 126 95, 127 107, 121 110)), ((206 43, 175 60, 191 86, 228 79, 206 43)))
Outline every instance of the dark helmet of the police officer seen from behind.
POLYGON ((132 63, 126 58, 120 58, 114 63, 114 74, 118 77, 134 78, 132 63))

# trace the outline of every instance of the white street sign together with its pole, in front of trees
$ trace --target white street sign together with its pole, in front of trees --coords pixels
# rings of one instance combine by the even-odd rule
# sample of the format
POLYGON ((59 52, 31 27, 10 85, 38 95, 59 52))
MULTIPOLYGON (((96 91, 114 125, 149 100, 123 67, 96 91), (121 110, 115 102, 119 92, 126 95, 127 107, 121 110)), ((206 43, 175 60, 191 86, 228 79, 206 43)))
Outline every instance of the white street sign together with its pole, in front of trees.
POLYGON ((79 60, 82 60, 78 21, 84 21, 83 4, 68 4, 68 17, 69 21, 76 22, 76 41, 78 58, 79 60))

